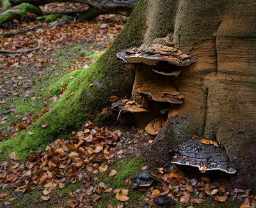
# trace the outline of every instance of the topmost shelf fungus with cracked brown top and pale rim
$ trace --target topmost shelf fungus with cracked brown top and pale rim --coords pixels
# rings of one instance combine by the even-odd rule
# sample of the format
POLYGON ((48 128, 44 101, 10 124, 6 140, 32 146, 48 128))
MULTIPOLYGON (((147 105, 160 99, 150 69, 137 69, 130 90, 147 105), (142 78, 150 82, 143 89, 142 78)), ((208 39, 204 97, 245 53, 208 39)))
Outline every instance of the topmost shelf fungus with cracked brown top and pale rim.
POLYGON ((145 63, 156 65, 159 61, 167 61, 176 66, 189 66, 196 62, 193 57, 183 54, 177 48, 161 45, 159 43, 143 44, 141 47, 128 48, 116 54, 127 63, 145 63))

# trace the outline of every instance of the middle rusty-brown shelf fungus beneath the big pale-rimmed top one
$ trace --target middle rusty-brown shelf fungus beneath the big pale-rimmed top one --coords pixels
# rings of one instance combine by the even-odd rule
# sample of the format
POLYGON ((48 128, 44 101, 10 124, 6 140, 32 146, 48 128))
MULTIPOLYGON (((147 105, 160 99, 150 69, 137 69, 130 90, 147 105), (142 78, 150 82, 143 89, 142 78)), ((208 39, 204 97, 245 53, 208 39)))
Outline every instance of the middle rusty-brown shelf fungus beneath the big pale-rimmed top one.
POLYGON ((168 80, 156 79, 151 82, 143 82, 135 87, 135 91, 147 94, 149 100, 182 104, 184 96, 175 89, 168 80))

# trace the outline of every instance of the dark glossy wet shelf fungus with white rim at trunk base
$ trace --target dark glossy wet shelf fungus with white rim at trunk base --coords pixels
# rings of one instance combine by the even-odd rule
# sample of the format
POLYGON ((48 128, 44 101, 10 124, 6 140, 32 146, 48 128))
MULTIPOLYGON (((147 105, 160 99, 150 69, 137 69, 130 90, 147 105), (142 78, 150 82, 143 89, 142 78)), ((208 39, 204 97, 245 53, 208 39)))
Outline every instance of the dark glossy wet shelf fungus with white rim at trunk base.
POLYGON ((215 145, 207 145, 200 140, 188 140, 177 147, 172 163, 198 167, 201 172, 220 170, 235 174, 236 169, 229 165, 225 151, 215 145))

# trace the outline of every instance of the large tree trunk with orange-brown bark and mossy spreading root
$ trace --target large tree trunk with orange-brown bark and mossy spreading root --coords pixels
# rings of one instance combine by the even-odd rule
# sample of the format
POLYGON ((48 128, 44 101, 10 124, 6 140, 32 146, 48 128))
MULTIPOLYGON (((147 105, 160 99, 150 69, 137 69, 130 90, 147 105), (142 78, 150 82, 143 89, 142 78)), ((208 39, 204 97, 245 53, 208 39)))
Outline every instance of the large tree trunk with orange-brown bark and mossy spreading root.
MULTIPOLYGON (((151 164, 168 168, 175 146, 191 135, 216 139, 236 165, 233 182, 255 190, 255 8, 256 2, 250 0, 139 1, 112 47, 90 71, 80 73, 51 112, 38 119, 30 130, 35 134, 21 138, 22 148, 35 149, 77 128, 86 113, 106 107, 108 96, 131 91, 131 68, 136 68, 133 89, 143 80, 143 70, 147 70, 147 77, 154 77, 147 65, 125 66, 115 54, 170 34, 175 47, 198 61, 180 67, 180 77, 170 78, 184 95, 184 103, 173 105, 146 158, 151 164), (93 88, 88 87, 92 83, 93 88), (68 97, 73 91, 75 96, 68 97), (49 127, 42 129, 44 122, 49 127)), ((137 93, 132 94, 136 97, 137 93)))

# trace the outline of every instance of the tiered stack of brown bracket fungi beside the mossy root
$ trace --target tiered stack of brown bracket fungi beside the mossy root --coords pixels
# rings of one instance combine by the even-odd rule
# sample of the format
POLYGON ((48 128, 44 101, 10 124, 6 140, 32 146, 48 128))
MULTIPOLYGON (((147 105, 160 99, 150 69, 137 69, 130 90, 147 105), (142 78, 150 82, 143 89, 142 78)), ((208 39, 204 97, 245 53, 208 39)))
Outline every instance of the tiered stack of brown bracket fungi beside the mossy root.
MULTIPOLYGON (((138 65, 140 68, 136 70, 132 90, 136 105, 125 105, 122 108, 123 110, 127 112, 148 112, 146 110, 148 100, 169 103, 165 109, 184 102, 184 96, 173 85, 173 77, 179 77, 180 66, 189 66, 195 63, 196 59, 175 48, 171 42, 164 41, 163 44, 156 42, 143 44, 141 47, 128 48, 116 54, 117 57, 127 63, 143 63, 143 65, 138 65), (163 45, 165 43, 168 44, 163 45), (136 108, 136 110, 133 108, 136 108)), ((143 126, 150 135, 157 135, 164 126, 166 118, 164 119, 161 110, 163 109, 160 109, 159 114, 156 114, 154 119, 143 126)), ((151 114, 154 112, 156 111, 153 107, 151 114)))

